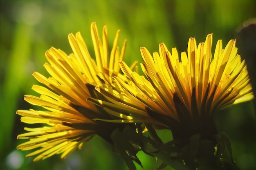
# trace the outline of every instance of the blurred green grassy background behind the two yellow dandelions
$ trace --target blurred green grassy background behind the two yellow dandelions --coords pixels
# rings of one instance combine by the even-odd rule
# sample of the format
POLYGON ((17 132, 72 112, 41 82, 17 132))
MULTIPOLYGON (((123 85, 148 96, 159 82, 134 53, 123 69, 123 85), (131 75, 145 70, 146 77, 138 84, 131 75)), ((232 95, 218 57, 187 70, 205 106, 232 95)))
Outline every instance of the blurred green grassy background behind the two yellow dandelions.
MULTIPOLYGON (((141 61, 139 47, 150 52, 164 42, 169 50, 186 51, 190 37, 203 42, 213 33, 223 45, 235 38, 244 21, 256 17, 255 0, 1 0, 0 10, 0 168, 15 170, 128 169, 124 161, 100 137, 94 137, 66 159, 59 155, 33 162, 29 153, 16 150, 25 132, 18 109, 34 108, 23 101, 25 94, 36 95, 31 76, 34 71, 48 75, 43 67, 44 53, 51 46, 71 53, 67 35, 81 31, 94 55, 90 24, 97 22, 99 33, 108 26, 109 41, 121 29, 119 46, 128 40, 125 61, 141 61)), ((239 49, 238 49, 239 53, 239 49)), ((253 102, 221 110, 216 115, 219 131, 229 135, 234 160, 241 169, 256 169, 256 118, 253 102)), ((165 132, 162 132, 164 134, 165 132)), ((165 134, 168 136, 168 134, 165 134)), ((166 139, 167 140, 167 139, 166 139)), ((156 168, 153 158, 139 153, 144 169, 156 168)), ((138 167, 138 169, 141 169, 138 167)), ((168 168, 166 168, 168 169, 168 168)))

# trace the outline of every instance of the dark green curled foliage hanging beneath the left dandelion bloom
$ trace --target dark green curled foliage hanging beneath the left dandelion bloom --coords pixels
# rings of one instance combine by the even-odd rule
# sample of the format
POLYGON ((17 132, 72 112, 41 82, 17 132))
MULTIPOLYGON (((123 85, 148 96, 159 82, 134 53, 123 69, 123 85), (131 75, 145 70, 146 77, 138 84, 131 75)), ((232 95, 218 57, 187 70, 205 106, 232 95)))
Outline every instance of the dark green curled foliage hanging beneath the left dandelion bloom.
MULTIPOLYGON (((153 132, 153 134, 155 134, 155 132, 153 132)), ((177 147, 174 146, 177 141, 170 141, 168 144, 164 144, 162 141, 158 141, 158 138, 159 137, 151 139, 150 137, 145 137, 143 134, 135 132, 130 126, 126 126, 122 132, 117 129, 111 135, 115 151, 125 160, 129 170, 135 170, 135 165, 132 160, 143 168, 139 158, 136 156, 139 151, 136 146, 139 146, 147 155, 156 158, 156 169, 162 169, 168 165, 175 170, 188 170, 188 166, 184 165, 181 158, 173 156, 173 154, 177 155, 176 153, 180 152, 180 150, 177 150, 177 147), (166 148, 166 145, 168 146, 168 150, 163 150, 163 146, 166 148), (159 164, 159 161, 162 163, 159 164)))

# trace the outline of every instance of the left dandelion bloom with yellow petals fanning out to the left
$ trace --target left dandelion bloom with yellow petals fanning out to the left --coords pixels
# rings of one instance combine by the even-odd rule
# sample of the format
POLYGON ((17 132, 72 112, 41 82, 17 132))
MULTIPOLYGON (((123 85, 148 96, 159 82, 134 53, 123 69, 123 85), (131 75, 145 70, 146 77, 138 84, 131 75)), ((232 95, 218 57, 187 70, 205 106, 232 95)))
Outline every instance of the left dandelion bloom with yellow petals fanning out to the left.
POLYGON ((99 38, 97 26, 91 25, 91 36, 96 62, 92 59, 86 44, 78 32, 68 35, 73 53, 67 55, 60 49, 51 48, 45 56, 49 64, 44 64, 50 77, 34 72, 34 77, 44 86, 34 85, 32 89, 40 97, 25 95, 30 104, 42 106, 44 110, 18 110, 21 121, 27 124, 45 124, 40 128, 25 128, 29 131, 18 135, 18 139, 29 139, 17 149, 32 150, 27 157, 37 156, 34 161, 62 153, 64 158, 76 148, 81 148, 95 134, 111 142, 110 134, 117 124, 102 124, 92 119, 112 119, 97 108, 88 97, 99 97, 94 87, 112 83, 112 76, 125 77, 119 73, 119 62, 124 57, 126 40, 119 51, 117 31, 112 50, 108 49, 107 27, 103 28, 103 40, 99 38))

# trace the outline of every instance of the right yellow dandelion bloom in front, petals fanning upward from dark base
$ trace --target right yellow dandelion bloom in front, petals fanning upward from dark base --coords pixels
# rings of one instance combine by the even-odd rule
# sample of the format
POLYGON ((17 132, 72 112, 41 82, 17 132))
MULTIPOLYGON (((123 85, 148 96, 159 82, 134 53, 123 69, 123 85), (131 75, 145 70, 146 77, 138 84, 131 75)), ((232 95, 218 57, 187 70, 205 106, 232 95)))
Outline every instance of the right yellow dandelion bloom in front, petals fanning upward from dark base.
POLYGON ((195 133, 207 138, 216 132, 213 115, 217 110, 254 97, 245 61, 237 54, 235 43, 230 40, 222 49, 222 40, 218 40, 212 56, 212 34, 198 46, 195 38, 190 38, 187 54, 182 52, 180 58, 176 48, 168 51, 164 43, 153 56, 141 48, 144 63, 140 65, 146 78, 122 61, 120 67, 128 79, 114 77, 115 90, 96 87, 119 106, 89 100, 115 116, 129 116, 124 122, 161 122, 172 130, 174 138, 187 139, 195 133))

